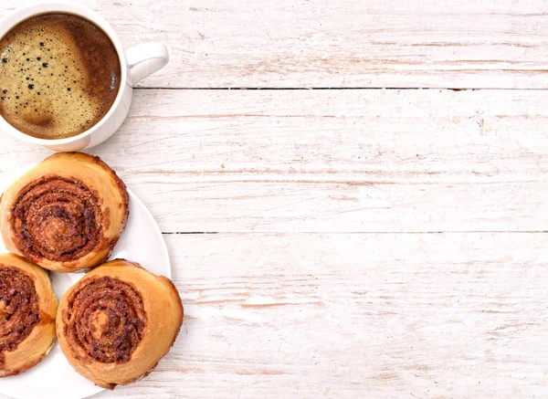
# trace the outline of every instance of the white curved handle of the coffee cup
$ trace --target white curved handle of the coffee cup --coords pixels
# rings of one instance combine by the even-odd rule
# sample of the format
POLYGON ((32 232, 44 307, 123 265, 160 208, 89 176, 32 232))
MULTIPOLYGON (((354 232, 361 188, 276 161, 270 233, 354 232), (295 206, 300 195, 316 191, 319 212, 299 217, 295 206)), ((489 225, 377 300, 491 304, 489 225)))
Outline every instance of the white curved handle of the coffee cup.
POLYGON ((162 69, 169 61, 169 53, 162 43, 143 43, 127 49, 125 55, 131 86, 162 69))

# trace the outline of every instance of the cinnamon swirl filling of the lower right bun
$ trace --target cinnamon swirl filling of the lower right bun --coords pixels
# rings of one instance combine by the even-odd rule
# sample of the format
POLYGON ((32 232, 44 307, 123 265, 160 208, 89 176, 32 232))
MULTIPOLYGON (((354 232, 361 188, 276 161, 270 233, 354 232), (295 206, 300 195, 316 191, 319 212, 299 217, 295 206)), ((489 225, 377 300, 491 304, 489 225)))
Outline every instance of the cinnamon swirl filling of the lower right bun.
POLYGON ((63 333, 73 351, 96 362, 128 362, 142 340, 146 314, 141 294, 118 278, 78 283, 63 312, 63 333))

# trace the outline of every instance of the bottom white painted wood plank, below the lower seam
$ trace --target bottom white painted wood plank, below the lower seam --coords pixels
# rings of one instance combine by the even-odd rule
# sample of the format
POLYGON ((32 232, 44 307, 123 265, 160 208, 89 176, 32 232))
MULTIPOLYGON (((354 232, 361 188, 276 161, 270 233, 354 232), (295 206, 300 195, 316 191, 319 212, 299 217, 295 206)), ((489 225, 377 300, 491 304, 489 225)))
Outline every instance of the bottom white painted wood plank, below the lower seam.
POLYGON ((545 234, 166 236, 185 306, 99 398, 543 397, 545 234))

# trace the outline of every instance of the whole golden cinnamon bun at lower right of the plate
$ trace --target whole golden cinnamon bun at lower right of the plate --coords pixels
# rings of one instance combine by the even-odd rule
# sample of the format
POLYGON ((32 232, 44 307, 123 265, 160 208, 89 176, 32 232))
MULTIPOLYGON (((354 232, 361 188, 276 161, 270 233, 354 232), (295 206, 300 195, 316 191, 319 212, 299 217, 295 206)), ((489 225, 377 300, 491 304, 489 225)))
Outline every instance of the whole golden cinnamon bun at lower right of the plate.
POLYGON ((74 369, 108 389, 151 373, 174 344, 183 304, 169 278, 112 260, 68 289, 57 333, 74 369))

